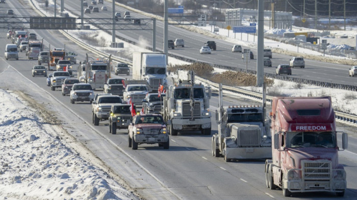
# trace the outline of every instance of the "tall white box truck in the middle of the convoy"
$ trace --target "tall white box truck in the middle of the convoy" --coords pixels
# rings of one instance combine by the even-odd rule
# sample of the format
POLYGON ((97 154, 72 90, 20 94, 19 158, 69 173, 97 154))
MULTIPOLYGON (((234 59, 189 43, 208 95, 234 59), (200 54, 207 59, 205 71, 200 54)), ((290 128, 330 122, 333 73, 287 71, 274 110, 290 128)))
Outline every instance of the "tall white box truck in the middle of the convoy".
POLYGON ((152 52, 133 53, 133 79, 146 80, 152 91, 157 91, 159 85, 164 87, 167 85, 166 70, 165 54, 152 52))

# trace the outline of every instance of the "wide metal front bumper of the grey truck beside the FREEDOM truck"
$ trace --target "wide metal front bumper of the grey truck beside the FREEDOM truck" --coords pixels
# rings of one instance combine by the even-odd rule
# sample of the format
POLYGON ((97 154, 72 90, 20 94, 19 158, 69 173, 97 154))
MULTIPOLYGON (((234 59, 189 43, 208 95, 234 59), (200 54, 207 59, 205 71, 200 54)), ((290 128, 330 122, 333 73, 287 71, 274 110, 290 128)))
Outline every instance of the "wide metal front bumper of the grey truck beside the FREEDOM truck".
POLYGON ((271 147, 225 147, 227 159, 270 159, 271 147))

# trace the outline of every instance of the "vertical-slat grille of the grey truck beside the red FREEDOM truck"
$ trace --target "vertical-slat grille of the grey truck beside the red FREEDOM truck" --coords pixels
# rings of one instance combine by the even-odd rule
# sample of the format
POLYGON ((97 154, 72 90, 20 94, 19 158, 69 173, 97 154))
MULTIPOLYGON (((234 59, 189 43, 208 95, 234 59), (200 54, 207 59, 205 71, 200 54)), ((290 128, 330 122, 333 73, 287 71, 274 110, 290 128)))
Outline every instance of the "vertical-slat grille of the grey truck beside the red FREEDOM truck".
POLYGON ((257 147, 260 146, 260 129, 244 128, 238 131, 237 144, 239 147, 257 147))

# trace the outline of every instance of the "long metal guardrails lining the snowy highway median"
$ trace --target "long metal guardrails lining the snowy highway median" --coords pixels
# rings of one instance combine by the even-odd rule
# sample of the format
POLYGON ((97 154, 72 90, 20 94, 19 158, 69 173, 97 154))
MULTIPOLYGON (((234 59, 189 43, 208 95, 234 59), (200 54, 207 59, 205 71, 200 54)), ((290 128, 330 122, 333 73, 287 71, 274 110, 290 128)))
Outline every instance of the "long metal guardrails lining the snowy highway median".
MULTIPOLYGON (((67 32, 65 32, 63 30, 60 30, 60 32, 65 37, 67 37, 71 41, 75 42, 76 44, 78 44, 82 48, 87 49, 88 51, 90 51, 92 53, 95 53, 95 54, 97 54, 99 56, 109 57, 109 54, 101 52, 101 51, 93 48, 92 46, 81 42, 80 40, 78 40, 77 38, 75 38, 72 35, 68 34, 67 32)), ((183 61, 186 61, 186 62, 197 62, 195 60, 192 60, 192 59, 189 59, 189 58, 184 58, 184 57, 173 55, 173 54, 169 54, 168 56, 171 56, 171 57, 174 57, 176 59, 183 60, 183 61)), ((132 65, 132 62, 124 60, 124 59, 121 59, 121 58, 118 58, 118 57, 115 57, 115 56, 112 57, 112 60, 114 60, 116 62, 126 63, 128 65, 132 65)), ((212 64, 212 63, 208 63, 208 64, 210 64, 212 67, 216 67, 216 68, 220 68, 220 69, 245 72, 245 69, 241 69, 241 68, 237 68, 237 67, 217 65, 217 64, 212 64)), ((251 73, 251 74, 256 74, 257 73, 257 71, 254 71, 254 70, 248 70, 247 72, 251 73)), ((319 82, 313 81, 313 80, 304 80, 304 79, 298 79, 298 78, 292 78, 292 77, 290 77, 291 78, 290 79, 289 77, 286 77, 286 76, 276 76, 275 74, 269 74, 269 73, 265 73, 265 76, 269 77, 269 78, 273 78, 273 79, 280 79, 280 80, 284 80, 284 81, 293 81, 293 82, 309 84, 309 85, 315 85, 315 84, 319 83, 319 82), (312 83, 315 83, 315 84, 312 84, 312 83)), ((213 82, 211 82, 209 80, 202 79, 200 77, 196 77, 196 79, 201 81, 201 82, 203 82, 203 83, 206 83, 206 84, 209 84, 209 85, 212 85, 212 86, 218 88, 218 84, 217 83, 213 83, 213 82)), ((326 87, 327 86, 334 86, 333 88, 338 88, 338 89, 350 88, 352 90, 352 87, 347 87, 347 86, 338 87, 341 84, 336 84, 335 85, 335 84, 332 84, 332 83, 328 84, 328 83, 323 83, 323 82, 321 82, 319 84, 321 84, 321 85, 318 85, 318 86, 323 86, 323 87, 324 86, 326 86, 326 87)), ((353 89, 354 89, 353 91, 357 91, 357 87, 354 87, 353 89)), ((263 95, 258 93, 258 92, 248 91, 248 90, 244 90, 244 89, 241 89, 241 88, 236 88, 236 87, 231 87, 231 86, 223 86, 223 90, 239 93, 239 94, 242 94, 242 95, 246 95, 246 96, 250 96, 250 97, 254 97, 254 98, 258 98, 258 99, 262 99, 263 98, 262 97, 263 95)), ((272 96, 268 96, 267 95, 266 99, 267 99, 267 101, 271 102, 272 101, 272 96)), ((346 121, 346 122, 357 123, 357 116, 355 116, 355 115, 348 114, 348 113, 343 113, 343 112, 339 112, 339 111, 335 111, 335 115, 336 115, 337 119, 341 119, 341 120, 346 121)))

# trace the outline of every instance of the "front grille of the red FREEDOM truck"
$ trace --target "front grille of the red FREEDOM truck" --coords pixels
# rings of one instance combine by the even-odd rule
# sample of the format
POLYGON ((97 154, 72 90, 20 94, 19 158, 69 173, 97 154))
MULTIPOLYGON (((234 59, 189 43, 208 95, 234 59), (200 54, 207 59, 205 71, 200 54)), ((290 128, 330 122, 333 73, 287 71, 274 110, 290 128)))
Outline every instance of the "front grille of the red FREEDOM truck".
POLYGON ((329 180, 331 176, 331 161, 301 161, 305 181, 329 180))

